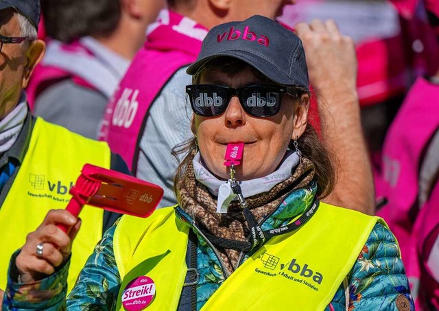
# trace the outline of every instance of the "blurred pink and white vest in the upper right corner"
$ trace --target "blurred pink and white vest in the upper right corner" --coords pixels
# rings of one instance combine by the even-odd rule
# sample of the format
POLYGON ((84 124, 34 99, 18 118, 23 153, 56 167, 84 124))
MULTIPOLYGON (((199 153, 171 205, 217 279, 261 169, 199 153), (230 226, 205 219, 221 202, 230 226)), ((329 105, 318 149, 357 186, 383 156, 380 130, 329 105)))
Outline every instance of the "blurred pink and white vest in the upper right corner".
MULTIPOLYGON (((404 2, 407 2, 404 3, 407 10, 415 4, 408 0, 404 2)), ((403 95, 410 86, 412 69, 416 74, 418 71, 425 73, 427 65, 437 69, 439 51, 436 42, 431 41, 431 30, 427 32, 422 23, 414 21, 404 21, 401 28, 399 12, 388 0, 301 0, 296 5, 288 5, 280 21, 292 26, 312 19, 333 19, 342 34, 353 38, 361 106, 403 95), (423 45, 422 51, 413 53, 412 42, 415 41, 423 45), (434 55, 429 64, 423 62, 426 54, 434 55)))

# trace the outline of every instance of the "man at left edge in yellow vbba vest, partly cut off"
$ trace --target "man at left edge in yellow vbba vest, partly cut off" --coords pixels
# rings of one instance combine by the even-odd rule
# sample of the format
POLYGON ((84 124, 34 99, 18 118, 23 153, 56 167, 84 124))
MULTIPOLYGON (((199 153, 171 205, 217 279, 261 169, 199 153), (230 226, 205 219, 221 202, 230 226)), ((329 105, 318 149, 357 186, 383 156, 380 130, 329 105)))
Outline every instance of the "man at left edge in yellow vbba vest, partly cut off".
MULTIPOLYGON (((6 284, 12 253, 50 209, 67 206, 69 188, 85 163, 128 171, 106 143, 30 114, 23 89, 45 54, 45 43, 37 40, 39 18, 38 0, 0 0, 0 289, 6 284)), ((90 208, 81 217, 88 229, 73 257, 71 287, 103 229, 117 215, 90 208)), ((36 256, 49 251, 43 245, 36 256)))

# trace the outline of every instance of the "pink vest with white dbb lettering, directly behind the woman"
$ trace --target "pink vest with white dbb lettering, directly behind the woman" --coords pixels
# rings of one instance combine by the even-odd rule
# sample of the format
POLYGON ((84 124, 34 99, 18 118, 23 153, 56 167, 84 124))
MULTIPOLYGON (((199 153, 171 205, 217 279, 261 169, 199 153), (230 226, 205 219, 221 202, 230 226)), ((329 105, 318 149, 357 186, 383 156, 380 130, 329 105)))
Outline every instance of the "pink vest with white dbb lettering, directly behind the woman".
POLYGON ((167 10, 148 28, 147 42, 108 103, 99 133, 130 170, 137 162, 137 144, 150 105, 178 69, 195 61, 206 33, 202 25, 167 10))

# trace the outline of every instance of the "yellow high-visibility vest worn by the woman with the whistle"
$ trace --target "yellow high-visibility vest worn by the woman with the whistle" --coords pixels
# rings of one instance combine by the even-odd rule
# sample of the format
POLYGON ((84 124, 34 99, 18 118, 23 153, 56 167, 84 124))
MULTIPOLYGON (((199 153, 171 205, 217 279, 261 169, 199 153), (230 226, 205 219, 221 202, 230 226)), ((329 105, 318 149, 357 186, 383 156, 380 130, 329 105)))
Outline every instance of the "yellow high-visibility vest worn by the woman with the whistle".
MULTIPOLYGON (((298 231, 278 235, 235 270, 202 310, 324 310, 381 218, 324 203, 298 231), (330 260, 328 260, 330 259, 330 260)), ((384 222, 383 222, 384 223, 384 222)), ((186 276, 187 234, 172 208, 146 220, 123 217, 114 251, 122 284, 141 275, 156 284, 147 310, 176 310, 186 276)))

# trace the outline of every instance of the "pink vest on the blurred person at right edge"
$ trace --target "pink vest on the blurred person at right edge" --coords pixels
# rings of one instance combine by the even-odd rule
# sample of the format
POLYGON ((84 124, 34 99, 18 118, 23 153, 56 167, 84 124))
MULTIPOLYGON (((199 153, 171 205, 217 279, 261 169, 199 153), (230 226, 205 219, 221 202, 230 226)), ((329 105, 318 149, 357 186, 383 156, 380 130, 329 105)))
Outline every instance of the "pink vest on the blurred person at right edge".
MULTIPOLYGON (((388 205, 377 214, 399 241, 415 302, 420 272, 416 260, 418 229, 414 227, 419 209, 423 210, 418 206, 420 161, 438 127, 439 87, 420 77, 390 126, 383 147, 383 173, 375 175, 377 198, 388 198, 388 205)), ((437 222, 438 218, 427 220, 437 222)))

